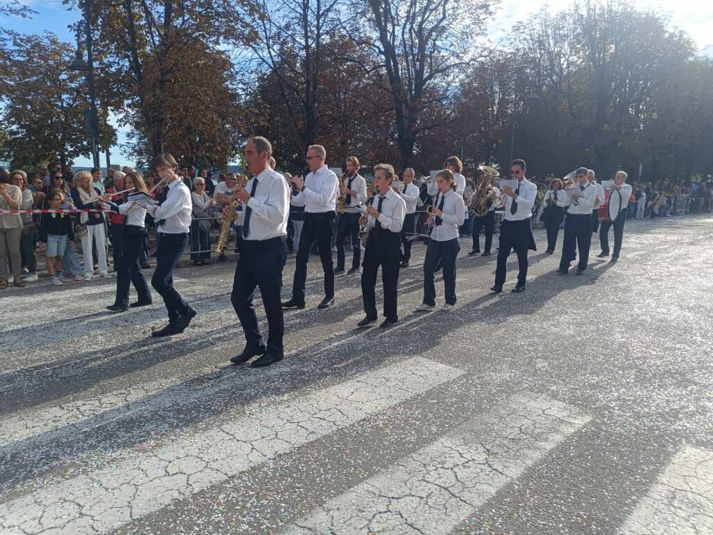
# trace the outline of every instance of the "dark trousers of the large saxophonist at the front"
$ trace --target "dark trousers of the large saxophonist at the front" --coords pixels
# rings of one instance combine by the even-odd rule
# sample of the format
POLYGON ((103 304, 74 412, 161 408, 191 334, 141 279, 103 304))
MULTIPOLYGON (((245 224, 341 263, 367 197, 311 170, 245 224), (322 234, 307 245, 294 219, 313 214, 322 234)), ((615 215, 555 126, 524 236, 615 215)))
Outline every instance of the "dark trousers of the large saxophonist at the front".
POLYGON ((264 343, 257 325, 252 300, 255 288, 260 288, 262 305, 267 316, 267 351, 282 355, 284 315, 280 302, 282 269, 287 261, 287 237, 270 240, 240 240, 240 258, 235 266, 230 302, 235 308, 248 347, 264 343))

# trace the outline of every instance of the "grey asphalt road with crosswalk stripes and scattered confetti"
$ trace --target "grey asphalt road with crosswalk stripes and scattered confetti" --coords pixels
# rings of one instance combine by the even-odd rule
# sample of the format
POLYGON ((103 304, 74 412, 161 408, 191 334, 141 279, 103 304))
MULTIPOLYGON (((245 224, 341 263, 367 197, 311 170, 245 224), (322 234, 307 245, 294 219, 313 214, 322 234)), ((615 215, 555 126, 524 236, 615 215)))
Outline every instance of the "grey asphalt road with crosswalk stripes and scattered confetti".
POLYGON ((233 263, 178 270, 168 340, 158 299, 106 313, 113 280, 4 290, 0 533, 712 534, 712 223, 627 222, 582 277, 538 230, 519 295, 466 240, 425 315, 419 246, 389 330, 356 330, 359 277, 317 310, 315 257, 261 370, 227 362, 233 263))

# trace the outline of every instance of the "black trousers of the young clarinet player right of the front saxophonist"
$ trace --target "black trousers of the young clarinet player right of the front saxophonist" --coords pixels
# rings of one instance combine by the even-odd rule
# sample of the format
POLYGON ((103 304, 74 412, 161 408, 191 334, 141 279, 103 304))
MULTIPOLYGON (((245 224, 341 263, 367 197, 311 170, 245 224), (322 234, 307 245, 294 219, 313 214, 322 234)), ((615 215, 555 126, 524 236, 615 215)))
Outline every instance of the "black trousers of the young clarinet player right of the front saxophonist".
POLYGON ((376 319, 376 275, 381 266, 381 282, 384 284, 384 317, 393 322, 399 320, 396 305, 396 285, 399 283, 399 257, 401 237, 391 230, 381 229, 378 240, 374 240, 375 230, 371 230, 366 240, 364 268, 361 270, 361 295, 364 297, 366 317, 376 319))

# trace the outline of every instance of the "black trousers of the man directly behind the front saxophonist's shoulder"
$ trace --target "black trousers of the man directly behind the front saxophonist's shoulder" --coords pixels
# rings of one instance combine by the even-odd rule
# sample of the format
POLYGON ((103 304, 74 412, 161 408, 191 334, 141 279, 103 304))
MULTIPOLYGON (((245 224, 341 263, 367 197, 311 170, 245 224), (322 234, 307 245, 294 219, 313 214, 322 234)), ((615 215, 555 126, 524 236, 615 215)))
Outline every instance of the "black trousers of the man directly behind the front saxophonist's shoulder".
POLYGON ((324 270, 324 296, 334 297, 334 264, 332 263, 332 230, 334 212, 304 213, 304 226, 299 235, 297 259, 292 282, 292 299, 304 302, 304 285, 307 282, 307 262, 312 245, 317 244, 319 259, 324 270))

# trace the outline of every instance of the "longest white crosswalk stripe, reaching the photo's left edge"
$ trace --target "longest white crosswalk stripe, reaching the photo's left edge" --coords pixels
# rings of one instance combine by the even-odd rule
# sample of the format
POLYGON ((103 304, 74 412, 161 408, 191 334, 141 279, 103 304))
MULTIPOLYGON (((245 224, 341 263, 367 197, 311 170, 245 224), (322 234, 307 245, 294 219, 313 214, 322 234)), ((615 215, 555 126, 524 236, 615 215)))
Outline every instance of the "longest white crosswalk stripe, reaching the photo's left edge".
POLYGON ((118 464, 0 504, 0 531, 106 533, 462 374, 416 357, 151 452, 127 451, 118 464))

